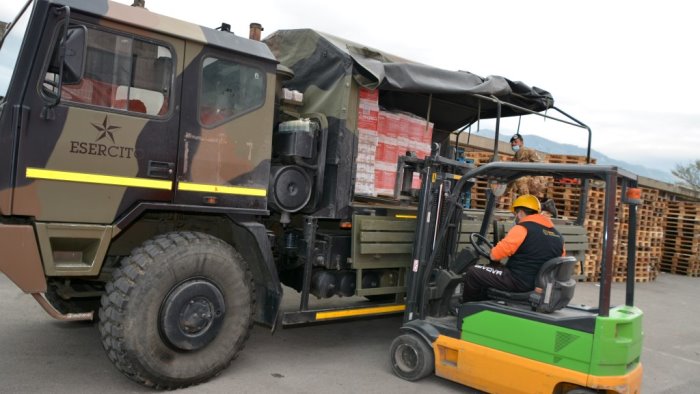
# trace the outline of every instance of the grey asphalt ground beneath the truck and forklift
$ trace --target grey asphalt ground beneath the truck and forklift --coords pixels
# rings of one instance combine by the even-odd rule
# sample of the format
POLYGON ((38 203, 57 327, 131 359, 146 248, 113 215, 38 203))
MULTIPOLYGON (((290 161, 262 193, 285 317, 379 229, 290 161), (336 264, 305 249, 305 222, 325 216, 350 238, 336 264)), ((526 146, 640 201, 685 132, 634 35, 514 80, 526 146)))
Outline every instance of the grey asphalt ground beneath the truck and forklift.
MULTIPOLYGON (((592 304, 598 287, 579 283, 575 302, 592 304)), ((645 393, 700 391, 700 278, 662 274, 637 284, 644 316, 645 393)), ((613 287, 624 300, 624 283, 613 287)), ((296 303, 294 295, 285 305, 296 303)), ((2 392, 149 392, 123 377, 102 350, 96 327, 52 320, 29 295, 0 275, 2 392)), ((229 369, 184 392, 197 393, 463 393, 440 378, 396 378, 388 348, 399 316, 279 330, 256 327, 229 369)))

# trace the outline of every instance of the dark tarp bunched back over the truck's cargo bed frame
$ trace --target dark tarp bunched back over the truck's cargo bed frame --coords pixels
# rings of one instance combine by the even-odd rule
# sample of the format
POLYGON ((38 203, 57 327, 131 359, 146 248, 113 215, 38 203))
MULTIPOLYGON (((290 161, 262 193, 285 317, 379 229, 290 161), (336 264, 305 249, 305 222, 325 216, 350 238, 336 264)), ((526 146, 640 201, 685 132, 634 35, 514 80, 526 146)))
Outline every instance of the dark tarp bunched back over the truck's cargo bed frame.
MULTIPOLYGON (((282 30, 273 33, 265 40, 280 61, 297 58, 295 50, 308 52, 309 47, 323 48, 322 55, 303 59, 306 70, 295 69, 294 64, 285 64, 296 73, 313 75, 317 86, 331 86, 335 81, 318 81, 324 75, 337 79, 337 73, 329 73, 328 64, 316 63, 311 59, 335 58, 352 67, 343 67, 363 87, 379 89, 379 104, 390 110, 401 110, 427 117, 429 96, 430 121, 441 130, 456 130, 476 122, 478 118, 495 118, 497 105, 490 100, 479 100, 474 95, 494 96, 500 101, 527 108, 531 111, 544 111, 554 105, 549 92, 530 87, 522 82, 514 82, 500 76, 482 78, 466 71, 448 71, 416 63, 392 54, 335 37, 314 30, 282 30), (291 45, 291 47, 290 47, 291 45), (293 49, 294 48, 294 49, 293 49), (290 52, 291 51, 291 52, 290 52), (328 53, 333 52, 333 53, 328 53), (312 68, 309 70, 308 68, 312 68), (480 109, 481 115, 478 115, 480 109)), ((502 106, 501 116, 515 116, 526 112, 502 106)))

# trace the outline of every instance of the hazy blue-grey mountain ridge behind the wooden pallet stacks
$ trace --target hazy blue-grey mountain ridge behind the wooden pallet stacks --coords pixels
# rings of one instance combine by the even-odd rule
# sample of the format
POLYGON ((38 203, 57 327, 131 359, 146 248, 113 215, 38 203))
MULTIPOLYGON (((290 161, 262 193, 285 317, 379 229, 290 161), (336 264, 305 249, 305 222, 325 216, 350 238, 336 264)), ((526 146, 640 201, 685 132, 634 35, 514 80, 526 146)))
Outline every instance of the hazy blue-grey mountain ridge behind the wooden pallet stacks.
MULTIPOLYGON (((486 138, 493 138, 496 133, 493 130, 481 130, 474 135, 478 135, 486 138)), ((511 135, 499 135, 499 140, 508 142, 511 135)), ((464 136, 462 136, 464 138, 464 136)), ((576 156, 586 156, 586 148, 581 148, 571 144, 560 144, 554 142, 547 138, 543 138, 537 135, 523 134, 523 139, 525 140, 525 146, 528 148, 536 149, 541 152, 551 153, 555 155, 576 155, 576 156)), ((591 149, 591 157, 596 159, 597 164, 612 165, 624 168, 627 171, 631 171, 637 175, 641 175, 647 178, 656 179, 662 182, 676 183, 677 179, 671 175, 670 172, 656 170, 653 168, 647 168, 638 164, 627 163, 622 160, 615 160, 608 157, 595 149, 591 149)))

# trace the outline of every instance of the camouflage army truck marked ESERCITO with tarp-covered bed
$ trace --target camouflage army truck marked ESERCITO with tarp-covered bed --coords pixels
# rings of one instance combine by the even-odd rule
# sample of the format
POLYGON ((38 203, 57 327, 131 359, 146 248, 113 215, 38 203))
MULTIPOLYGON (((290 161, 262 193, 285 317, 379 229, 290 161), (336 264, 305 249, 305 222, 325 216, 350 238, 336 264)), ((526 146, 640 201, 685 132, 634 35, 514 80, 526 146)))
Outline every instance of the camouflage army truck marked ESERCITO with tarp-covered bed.
POLYGON ((459 127, 553 106, 312 30, 228 30, 32 0, 0 47, 0 271, 55 318, 99 311, 110 360, 150 387, 218 374, 254 323, 403 310, 416 207, 403 179, 399 199, 355 193, 361 89, 443 151, 459 127))

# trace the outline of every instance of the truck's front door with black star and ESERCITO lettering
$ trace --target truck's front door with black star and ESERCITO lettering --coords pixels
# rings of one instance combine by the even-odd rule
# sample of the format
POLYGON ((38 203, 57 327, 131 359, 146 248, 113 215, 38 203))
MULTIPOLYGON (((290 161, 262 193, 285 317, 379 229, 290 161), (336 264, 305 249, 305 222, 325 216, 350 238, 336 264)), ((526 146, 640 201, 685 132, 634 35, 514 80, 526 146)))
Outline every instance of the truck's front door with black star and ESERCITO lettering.
POLYGON ((35 62, 23 101, 13 213, 112 223, 140 202, 173 199, 184 42, 73 18, 71 28, 84 26, 84 72, 46 107, 57 93, 52 58, 63 22, 47 27, 37 53, 48 55, 35 62))

